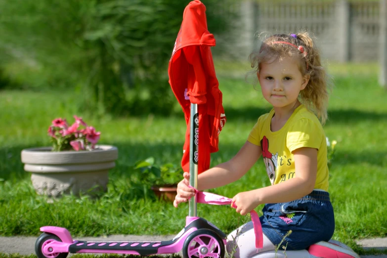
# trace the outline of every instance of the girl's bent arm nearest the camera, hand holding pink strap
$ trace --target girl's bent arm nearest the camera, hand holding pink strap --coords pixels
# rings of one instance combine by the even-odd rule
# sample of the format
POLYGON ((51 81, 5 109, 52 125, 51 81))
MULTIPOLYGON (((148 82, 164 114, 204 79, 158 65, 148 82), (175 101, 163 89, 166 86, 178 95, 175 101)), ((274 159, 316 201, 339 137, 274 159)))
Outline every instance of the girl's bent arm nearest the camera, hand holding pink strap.
POLYGON ((296 176, 285 182, 242 192, 234 196, 237 212, 246 215, 260 204, 290 202, 311 193, 316 183, 317 149, 293 151, 296 176))

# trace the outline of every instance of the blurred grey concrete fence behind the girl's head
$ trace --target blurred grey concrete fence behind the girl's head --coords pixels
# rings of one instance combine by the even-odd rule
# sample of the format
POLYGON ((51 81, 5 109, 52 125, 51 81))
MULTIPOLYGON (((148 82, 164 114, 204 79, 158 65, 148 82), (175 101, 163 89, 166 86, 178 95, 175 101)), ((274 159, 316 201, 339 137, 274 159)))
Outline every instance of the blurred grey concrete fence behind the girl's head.
MULTIPOLYGON (((232 8, 232 37, 218 37, 225 53, 246 60, 262 32, 311 32, 322 57, 338 62, 381 62, 386 70, 387 0, 241 0, 232 8), (233 39, 233 40, 232 40, 233 39)), ((381 73, 386 84, 386 71, 381 73)))

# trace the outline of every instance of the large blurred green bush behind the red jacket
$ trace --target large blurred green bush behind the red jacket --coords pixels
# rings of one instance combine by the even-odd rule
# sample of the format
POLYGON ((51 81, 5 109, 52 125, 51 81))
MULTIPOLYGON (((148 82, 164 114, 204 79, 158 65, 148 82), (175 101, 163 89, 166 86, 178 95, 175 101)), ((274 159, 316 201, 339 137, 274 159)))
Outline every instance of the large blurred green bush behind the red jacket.
MULTIPOLYGON (((168 60, 188 2, 0 1, 0 59, 36 61, 42 80, 82 92, 88 110, 165 114, 173 100, 168 60)), ((210 31, 225 32, 229 3, 216 2, 205 2, 216 10, 207 14, 210 31)))

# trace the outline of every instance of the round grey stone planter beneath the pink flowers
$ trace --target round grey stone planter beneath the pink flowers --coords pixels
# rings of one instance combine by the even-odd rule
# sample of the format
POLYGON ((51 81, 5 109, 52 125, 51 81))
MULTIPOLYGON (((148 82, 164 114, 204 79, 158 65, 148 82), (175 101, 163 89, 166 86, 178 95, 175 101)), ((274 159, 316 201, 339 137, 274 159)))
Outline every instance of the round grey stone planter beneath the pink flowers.
POLYGON ((92 151, 53 152, 50 147, 24 149, 21 161, 31 172, 38 194, 57 197, 72 192, 78 195, 90 188, 106 191, 109 169, 115 167, 118 149, 97 145, 92 151))

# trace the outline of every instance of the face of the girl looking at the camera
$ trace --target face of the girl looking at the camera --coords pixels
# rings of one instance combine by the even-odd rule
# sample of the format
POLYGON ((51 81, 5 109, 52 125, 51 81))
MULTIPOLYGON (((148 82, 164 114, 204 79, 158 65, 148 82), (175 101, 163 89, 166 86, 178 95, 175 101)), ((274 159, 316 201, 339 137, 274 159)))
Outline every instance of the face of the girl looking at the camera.
POLYGON ((302 76, 298 61, 290 57, 261 63, 257 75, 263 97, 278 108, 293 106, 309 82, 309 76, 302 76))

